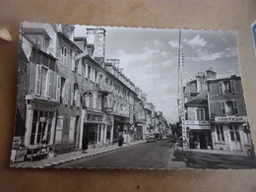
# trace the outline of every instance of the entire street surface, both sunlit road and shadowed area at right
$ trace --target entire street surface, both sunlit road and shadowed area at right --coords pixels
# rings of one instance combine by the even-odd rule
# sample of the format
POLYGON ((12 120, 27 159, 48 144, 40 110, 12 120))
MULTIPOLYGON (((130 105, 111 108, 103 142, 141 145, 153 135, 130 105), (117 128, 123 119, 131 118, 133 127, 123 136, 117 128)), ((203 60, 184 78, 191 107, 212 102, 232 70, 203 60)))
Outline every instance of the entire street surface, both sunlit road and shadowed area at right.
POLYGON ((255 168, 247 157, 175 151, 168 140, 142 143, 56 167, 87 168, 255 168))

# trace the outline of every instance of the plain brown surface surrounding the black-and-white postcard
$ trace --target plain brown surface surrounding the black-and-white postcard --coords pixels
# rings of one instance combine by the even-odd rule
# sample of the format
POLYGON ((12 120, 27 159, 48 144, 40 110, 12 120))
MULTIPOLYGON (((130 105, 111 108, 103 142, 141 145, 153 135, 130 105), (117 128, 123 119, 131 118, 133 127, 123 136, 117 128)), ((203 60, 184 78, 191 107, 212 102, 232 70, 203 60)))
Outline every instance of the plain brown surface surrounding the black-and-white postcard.
POLYGON ((245 100, 256 137, 256 65, 250 31, 254 0, 1 0, 0 26, 13 42, 0 45, 1 191, 255 191, 256 170, 12 169, 19 26, 30 22, 237 31, 245 100), (202 11, 204 10, 204 11, 202 11), (43 178, 43 179, 42 179, 43 178), (15 180, 14 180, 15 179, 15 180), (156 184, 157 183, 157 184, 156 184))

